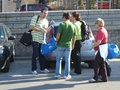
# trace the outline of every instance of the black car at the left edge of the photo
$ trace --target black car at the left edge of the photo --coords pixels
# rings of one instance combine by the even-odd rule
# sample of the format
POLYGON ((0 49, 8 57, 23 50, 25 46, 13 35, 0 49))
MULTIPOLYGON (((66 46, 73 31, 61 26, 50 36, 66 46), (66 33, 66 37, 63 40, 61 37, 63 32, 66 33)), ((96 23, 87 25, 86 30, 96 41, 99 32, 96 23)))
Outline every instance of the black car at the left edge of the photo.
POLYGON ((0 23, 0 71, 8 72, 10 62, 14 61, 14 40, 10 29, 3 23, 0 23))

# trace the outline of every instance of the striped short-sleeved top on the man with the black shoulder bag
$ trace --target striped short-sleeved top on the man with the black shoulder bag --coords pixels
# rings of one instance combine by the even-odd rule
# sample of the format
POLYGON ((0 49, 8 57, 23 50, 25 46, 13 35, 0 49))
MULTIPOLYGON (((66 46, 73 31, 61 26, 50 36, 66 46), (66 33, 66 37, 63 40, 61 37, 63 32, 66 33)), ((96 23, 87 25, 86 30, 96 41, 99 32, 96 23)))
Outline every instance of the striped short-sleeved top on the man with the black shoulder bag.
MULTIPOLYGON (((38 30, 48 28, 48 20, 47 19, 38 19, 38 22, 36 23, 38 15, 35 15, 32 17, 30 25, 36 26, 38 30)), ((39 43, 46 43, 46 34, 43 32, 38 31, 32 31, 32 41, 39 42, 39 43)))

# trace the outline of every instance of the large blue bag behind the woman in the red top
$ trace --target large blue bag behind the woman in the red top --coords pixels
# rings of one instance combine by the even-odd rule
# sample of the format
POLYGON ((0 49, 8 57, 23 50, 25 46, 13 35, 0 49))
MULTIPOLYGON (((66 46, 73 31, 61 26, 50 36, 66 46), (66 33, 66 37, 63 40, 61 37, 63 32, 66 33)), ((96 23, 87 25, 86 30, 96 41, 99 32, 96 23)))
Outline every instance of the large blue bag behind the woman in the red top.
POLYGON ((108 59, 117 58, 120 55, 119 48, 116 44, 108 44, 108 59))

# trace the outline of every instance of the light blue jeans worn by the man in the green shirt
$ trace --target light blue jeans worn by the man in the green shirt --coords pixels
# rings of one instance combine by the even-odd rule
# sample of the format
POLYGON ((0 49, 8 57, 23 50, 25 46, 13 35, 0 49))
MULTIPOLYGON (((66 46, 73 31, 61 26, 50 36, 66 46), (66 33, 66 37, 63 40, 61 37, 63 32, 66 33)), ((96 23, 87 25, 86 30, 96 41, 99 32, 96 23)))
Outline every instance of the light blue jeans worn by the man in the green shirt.
POLYGON ((65 57, 65 69, 64 69, 64 76, 70 75, 70 57, 71 57, 71 49, 70 48, 63 48, 57 47, 57 56, 56 56, 56 76, 61 75, 61 64, 62 58, 65 57))

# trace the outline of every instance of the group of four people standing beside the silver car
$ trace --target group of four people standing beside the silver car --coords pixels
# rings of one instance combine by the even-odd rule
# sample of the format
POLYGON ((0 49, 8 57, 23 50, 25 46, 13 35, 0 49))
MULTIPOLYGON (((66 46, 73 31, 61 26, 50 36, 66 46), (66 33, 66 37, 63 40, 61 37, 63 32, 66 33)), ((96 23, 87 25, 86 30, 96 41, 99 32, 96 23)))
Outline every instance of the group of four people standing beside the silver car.
MULTIPOLYGON (((48 9, 44 8, 41 10, 40 17, 37 20, 37 15, 33 16, 30 23, 30 28, 32 29, 32 47, 33 47, 33 55, 32 55, 32 73, 37 74, 37 61, 40 64, 40 72, 48 73, 49 70, 46 67, 45 57, 41 54, 40 48, 41 44, 45 43, 46 34, 49 33, 51 27, 48 27, 48 20, 46 19, 48 15, 48 9)), ((81 60, 80 60, 80 48, 81 48, 81 21, 82 18, 78 12, 72 13, 63 13, 62 22, 58 27, 58 32, 56 35, 56 74, 55 77, 57 79, 61 78, 62 76, 62 57, 65 57, 65 69, 63 78, 71 79, 70 75, 70 61, 74 62, 74 72, 76 74, 81 74, 81 60)), ((53 23, 53 22, 52 22, 53 23)), ((95 49, 96 60, 95 60, 95 67, 94 73, 95 76, 92 81, 98 81, 98 72, 101 68, 101 76, 103 81, 107 81, 106 76, 106 69, 104 64, 104 59, 100 56, 99 53, 99 45, 106 44, 108 40, 107 31, 104 28, 104 21, 103 19, 97 19, 96 26, 98 28, 98 32, 95 39, 95 44, 93 48, 95 49), (99 24, 100 23, 100 24, 99 24)))

